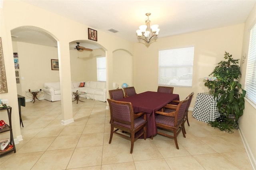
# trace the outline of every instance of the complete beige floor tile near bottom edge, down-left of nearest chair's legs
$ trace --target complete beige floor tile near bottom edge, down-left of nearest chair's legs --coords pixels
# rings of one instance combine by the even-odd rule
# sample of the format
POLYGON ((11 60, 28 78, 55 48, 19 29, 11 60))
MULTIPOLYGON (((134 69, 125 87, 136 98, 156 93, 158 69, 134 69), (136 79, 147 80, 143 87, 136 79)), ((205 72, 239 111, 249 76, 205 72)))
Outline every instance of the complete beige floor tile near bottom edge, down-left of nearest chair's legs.
POLYGON ((101 165, 102 146, 76 148, 67 168, 81 168, 101 165))

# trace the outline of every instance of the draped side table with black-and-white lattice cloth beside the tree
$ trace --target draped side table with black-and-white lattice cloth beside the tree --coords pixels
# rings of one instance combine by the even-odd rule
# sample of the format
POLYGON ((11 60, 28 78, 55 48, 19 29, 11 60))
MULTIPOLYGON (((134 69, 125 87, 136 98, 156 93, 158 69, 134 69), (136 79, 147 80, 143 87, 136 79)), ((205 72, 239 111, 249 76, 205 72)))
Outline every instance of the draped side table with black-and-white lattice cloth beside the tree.
POLYGON ((192 116, 196 118, 196 120, 206 123, 215 121, 215 119, 220 117, 216 105, 217 101, 214 100, 213 95, 209 93, 198 93, 192 116))

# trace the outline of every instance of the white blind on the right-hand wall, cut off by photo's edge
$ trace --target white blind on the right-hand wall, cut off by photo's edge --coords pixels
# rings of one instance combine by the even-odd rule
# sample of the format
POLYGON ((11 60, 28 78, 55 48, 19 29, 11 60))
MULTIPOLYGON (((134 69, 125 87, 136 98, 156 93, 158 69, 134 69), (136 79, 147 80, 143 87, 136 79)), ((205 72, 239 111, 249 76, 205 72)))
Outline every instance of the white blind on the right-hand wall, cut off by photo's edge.
POLYGON ((246 90, 246 97, 256 104, 256 24, 250 32, 244 89, 246 90))

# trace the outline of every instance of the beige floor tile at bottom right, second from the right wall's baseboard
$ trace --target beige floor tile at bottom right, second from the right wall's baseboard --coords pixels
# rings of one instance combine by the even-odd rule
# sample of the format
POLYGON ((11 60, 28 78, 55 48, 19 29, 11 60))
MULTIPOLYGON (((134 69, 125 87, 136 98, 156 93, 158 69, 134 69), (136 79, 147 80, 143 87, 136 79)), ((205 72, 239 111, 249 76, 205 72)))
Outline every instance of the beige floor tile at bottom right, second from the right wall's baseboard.
POLYGON ((220 154, 203 154, 193 156, 206 170, 239 170, 220 154))

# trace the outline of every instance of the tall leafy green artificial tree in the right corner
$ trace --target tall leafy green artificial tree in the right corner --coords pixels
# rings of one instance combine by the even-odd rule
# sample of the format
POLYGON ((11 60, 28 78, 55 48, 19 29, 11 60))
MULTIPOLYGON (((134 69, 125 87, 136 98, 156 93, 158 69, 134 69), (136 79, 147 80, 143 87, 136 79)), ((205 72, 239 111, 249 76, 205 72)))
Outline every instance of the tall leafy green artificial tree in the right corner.
POLYGON ((231 128, 238 128, 238 119, 243 115, 246 91, 238 82, 241 77, 238 59, 233 59, 226 51, 224 59, 227 61, 220 61, 209 77, 204 78, 204 85, 217 100, 216 106, 220 112, 220 117, 209 124, 232 132, 231 128))

